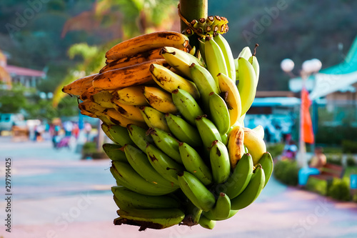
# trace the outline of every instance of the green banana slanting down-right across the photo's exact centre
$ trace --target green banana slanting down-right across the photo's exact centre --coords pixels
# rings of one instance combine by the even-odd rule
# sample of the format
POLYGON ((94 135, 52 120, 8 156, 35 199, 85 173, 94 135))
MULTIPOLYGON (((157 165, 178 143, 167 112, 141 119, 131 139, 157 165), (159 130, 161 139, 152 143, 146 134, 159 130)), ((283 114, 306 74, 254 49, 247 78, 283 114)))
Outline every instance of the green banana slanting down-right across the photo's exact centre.
POLYGON ((172 134, 181 142, 186 142, 191 147, 199 147, 202 145, 201 137, 198 134, 196 127, 186 122, 179 116, 166 114, 166 122, 172 134))

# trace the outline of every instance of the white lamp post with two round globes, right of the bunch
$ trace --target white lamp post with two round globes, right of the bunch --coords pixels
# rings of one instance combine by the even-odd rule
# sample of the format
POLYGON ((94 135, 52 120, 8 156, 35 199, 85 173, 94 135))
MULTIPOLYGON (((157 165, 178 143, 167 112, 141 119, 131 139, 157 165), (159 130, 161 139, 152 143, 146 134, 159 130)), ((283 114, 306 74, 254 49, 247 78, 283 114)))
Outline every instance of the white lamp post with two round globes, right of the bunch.
MULTIPOLYGON (((288 74, 289 76, 294 76, 292 74, 292 70, 294 67, 294 62, 291 59, 283 59, 283 61, 281 61, 281 69, 286 72, 286 74, 288 74)), ((316 72, 318 72, 321 69, 321 61, 318 59, 310 59, 310 60, 306 60, 303 61, 303 64, 301 65, 301 71, 300 71, 300 75, 301 75, 301 79, 302 79, 302 85, 301 85, 301 99, 302 99, 302 92, 303 89, 305 88, 305 81, 306 79, 308 79, 308 77, 311 74, 314 74, 316 72)), ((302 101, 301 101, 302 102, 302 101)), ((307 167, 308 163, 306 160, 306 147, 305 147, 305 142, 303 142, 303 106, 301 104, 300 106, 300 127, 299 127, 299 148, 298 148, 298 162, 301 166, 303 167, 307 167)))

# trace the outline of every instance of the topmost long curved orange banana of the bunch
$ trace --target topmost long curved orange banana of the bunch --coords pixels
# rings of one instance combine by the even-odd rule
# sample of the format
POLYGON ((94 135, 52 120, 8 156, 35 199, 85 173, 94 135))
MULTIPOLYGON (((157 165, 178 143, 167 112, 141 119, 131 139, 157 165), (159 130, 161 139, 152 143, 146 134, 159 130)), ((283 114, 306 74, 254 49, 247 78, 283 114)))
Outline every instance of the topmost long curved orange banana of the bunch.
POLYGON ((158 31, 123 41, 106 52, 106 59, 119 59, 164 46, 183 49, 188 46, 187 36, 175 31, 158 31))

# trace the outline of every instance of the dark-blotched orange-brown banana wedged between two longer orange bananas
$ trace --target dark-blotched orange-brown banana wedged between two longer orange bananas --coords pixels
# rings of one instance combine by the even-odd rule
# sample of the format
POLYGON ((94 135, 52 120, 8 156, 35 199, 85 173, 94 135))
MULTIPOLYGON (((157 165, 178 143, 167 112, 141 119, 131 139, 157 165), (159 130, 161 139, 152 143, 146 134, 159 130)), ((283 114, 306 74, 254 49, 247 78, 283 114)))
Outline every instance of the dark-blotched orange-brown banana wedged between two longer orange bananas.
POLYGON ((160 55, 160 51, 161 48, 156 48, 150 51, 139 52, 138 54, 134 54, 133 56, 116 59, 115 61, 111 61, 109 64, 106 64, 106 66, 104 66, 101 71, 99 71, 99 74, 105 71, 131 66, 133 64, 141 64, 145 61, 151 61, 153 59, 162 59, 163 56, 160 55))

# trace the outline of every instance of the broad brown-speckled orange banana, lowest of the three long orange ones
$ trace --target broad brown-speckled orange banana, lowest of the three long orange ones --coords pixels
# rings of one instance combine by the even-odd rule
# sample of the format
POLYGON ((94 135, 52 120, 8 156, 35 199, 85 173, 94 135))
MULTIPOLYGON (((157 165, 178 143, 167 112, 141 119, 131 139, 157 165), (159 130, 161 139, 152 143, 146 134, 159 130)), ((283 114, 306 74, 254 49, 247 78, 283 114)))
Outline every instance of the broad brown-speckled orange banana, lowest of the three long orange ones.
POLYGON ((141 64, 105 71, 94 78, 93 86, 94 88, 110 90, 144 84, 153 80, 149 71, 150 64, 163 65, 166 64, 166 61, 165 59, 153 59, 141 64))

